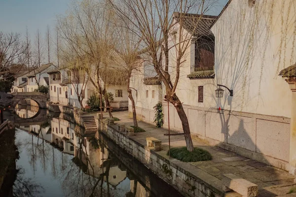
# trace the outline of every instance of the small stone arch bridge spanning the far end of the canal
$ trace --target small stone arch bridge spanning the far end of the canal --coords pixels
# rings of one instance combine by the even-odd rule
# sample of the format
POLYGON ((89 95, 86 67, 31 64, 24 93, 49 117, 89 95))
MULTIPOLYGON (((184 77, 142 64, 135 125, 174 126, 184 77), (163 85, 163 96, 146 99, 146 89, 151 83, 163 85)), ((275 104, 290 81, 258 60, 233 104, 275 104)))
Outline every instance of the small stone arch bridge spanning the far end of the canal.
POLYGON ((32 99, 37 102, 39 108, 46 108, 47 94, 40 92, 14 92, 11 93, 11 107, 15 108, 16 104, 23 99, 32 99))

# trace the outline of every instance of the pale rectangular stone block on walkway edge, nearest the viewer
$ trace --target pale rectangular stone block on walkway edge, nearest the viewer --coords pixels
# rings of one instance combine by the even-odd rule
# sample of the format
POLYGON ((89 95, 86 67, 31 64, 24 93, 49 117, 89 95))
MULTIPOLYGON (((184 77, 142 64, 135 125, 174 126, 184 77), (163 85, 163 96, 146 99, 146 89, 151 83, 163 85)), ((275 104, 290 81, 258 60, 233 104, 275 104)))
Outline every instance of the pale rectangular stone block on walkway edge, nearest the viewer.
POLYGON ((256 197, 258 195, 258 186, 246 179, 240 178, 234 174, 223 174, 223 184, 231 190, 241 194, 244 197, 256 197))

